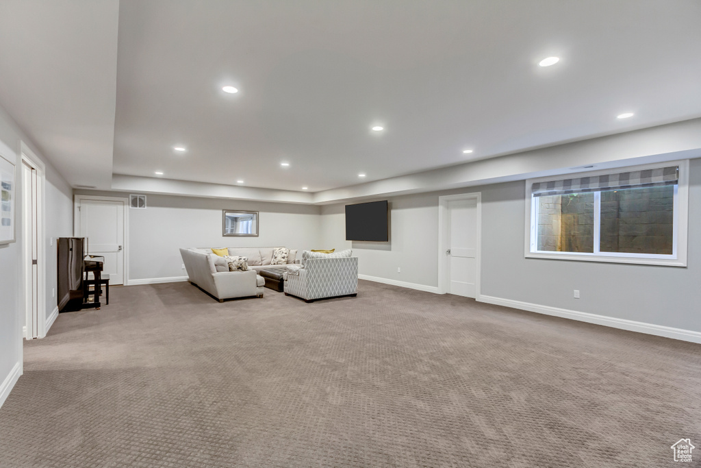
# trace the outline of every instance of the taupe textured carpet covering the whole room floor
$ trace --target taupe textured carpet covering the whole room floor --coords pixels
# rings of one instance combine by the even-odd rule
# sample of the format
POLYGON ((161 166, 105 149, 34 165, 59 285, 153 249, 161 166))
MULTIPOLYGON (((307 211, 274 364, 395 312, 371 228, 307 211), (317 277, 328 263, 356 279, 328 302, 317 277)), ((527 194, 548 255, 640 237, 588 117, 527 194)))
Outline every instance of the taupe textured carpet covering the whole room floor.
POLYGON ((701 460, 700 345, 367 281, 110 292, 25 345, 0 467, 665 467, 682 437, 701 460))

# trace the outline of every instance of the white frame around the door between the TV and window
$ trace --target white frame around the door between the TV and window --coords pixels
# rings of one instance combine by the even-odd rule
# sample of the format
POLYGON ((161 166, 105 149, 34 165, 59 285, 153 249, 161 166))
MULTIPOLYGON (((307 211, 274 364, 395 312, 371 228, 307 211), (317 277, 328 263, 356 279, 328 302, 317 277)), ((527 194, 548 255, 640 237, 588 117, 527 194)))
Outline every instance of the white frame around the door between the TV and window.
POLYGON ((476 200, 477 201, 477 279, 475 281, 475 300, 481 296, 482 278, 482 192, 472 192, 469 194, 444 195, 438 197, 438 294, 447 293, 449 288, 449 278, 446 278, 446 255, 448 250, 448 202, 456 200, 476 200))

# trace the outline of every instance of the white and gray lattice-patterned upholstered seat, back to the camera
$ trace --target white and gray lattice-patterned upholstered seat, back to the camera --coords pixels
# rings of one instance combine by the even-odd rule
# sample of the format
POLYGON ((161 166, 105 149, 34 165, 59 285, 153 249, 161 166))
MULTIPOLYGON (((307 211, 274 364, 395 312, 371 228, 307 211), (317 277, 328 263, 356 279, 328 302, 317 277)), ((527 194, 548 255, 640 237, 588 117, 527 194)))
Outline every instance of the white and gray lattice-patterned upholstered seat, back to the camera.
POLYGON ((306 302, 358 295, 358 257, 351 257, 350 250, 332 254, 305 250, 301 265, 287 269, 285 295, 301 297, 306 302))

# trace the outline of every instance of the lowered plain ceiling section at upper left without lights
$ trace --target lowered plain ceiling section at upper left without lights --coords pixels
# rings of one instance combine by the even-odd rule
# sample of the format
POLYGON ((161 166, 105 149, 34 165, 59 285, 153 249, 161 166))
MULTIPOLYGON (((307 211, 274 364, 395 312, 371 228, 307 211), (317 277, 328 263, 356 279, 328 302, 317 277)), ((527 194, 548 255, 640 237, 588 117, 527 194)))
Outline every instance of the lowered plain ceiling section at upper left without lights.
POLYGON ((111 184, 118 9, 0 1, 0 105, 72 185, 111 184))

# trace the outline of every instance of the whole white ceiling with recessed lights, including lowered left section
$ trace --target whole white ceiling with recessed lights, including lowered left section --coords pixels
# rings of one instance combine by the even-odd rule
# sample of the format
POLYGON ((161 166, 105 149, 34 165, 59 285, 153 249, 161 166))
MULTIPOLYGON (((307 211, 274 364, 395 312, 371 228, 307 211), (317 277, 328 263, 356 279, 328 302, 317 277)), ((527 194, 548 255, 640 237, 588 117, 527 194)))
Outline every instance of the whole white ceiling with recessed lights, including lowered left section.
POLYGON ((701 116, 695 0, 10 4, 0 104, 72 184, 109 119, 96 174, 318 192, 701 116))

